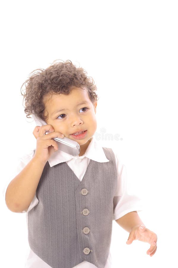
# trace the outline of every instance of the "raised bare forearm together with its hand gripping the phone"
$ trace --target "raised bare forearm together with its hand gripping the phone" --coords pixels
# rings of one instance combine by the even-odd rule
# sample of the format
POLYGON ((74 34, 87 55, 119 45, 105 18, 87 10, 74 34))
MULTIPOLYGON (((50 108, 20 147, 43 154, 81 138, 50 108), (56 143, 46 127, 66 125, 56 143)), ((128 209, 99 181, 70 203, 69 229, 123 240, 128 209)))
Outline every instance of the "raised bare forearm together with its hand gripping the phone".
POLYGON ((21 213, 28 209, 46 162, 58 150, 58 144, 53 138, 63 138, 63 134, 54 131, 53 126, 49 124, 42 127, 36 126, 33 134, 36 138, 34 157, 7 187, 5 201, 12 212, 21 213), (46 131, 50 130, 52 132, 45 135, 46 131))

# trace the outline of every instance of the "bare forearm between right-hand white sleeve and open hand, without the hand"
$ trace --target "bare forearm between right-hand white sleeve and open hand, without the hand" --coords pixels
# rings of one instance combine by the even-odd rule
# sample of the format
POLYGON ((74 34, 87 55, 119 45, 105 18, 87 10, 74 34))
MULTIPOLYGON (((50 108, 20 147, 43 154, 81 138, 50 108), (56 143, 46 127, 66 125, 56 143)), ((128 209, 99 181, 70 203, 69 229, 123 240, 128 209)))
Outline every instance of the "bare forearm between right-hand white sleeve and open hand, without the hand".
POLYGON ((117 219, 116 222, 129 233, 134 226, 144 224, 136 211, 125 214, 117 219))

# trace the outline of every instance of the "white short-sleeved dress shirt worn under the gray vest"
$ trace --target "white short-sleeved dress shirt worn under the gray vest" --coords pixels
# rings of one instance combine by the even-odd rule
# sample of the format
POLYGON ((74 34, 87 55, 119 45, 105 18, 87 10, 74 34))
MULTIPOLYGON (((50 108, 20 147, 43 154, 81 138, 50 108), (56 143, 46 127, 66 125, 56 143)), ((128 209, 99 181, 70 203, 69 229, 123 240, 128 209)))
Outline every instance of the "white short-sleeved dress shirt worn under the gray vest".
MULTIPOLYGON (((103 146, 104 147, 104 146, 103 146)), ((114 149, 112 148, 113 152, 114 149)), ((117 189, 115 192, 115 196, 113 198, 113 220, 119 219, 125 214, 131 211, 142 211, 142 203, 140 198, 135 195, 129 195, 127 191, 127 180, 126 180, 126 169, 125 165, 122 164, 120 158, 117 153, 115 153, 115 161, 117 167, 117 189)), ((33 158, 34 150, 31 150, 28 154, 18 159, 18 166, 15 168, 15 171, 12 171, 12 177, 8 177, 4 186, 3 195, 5 201, 5 194, 7 187, 11 180, 20 173, 20 171, 28 164, 28 162, 33 158)), ((50 167, 57 165, 58 163, 66 162, 74 174, 78 177, 80 181, 86 172, 90 159, 97 162, 109 162, 106 158, 106 155, 102 149, 102 146, 97 142, 95 136, 93 135, 90 144, 82 156, 72 156, 60 150, 56 151, 51 155, 48 162, 50 167)), ((34 208, 38 204, 39 200, 36 197, 36 193, 34 195, 34 199, 32 200, 30 206, 26 212, 26 222, 28 229, 28 212, 34 208)), ((112 267, 112 258, 111 253, 109 252, 109 256, 104 268, 112 267)), ((25 268, 51 268, 47 263, 45 263, 41 258, 39 258, 29 247, 28 258, 26 260, 25 268)), ((88 261, 82 261, 80 264, 76 265, 73 268, 96 268, 94 264, 91 264, 88 261)))

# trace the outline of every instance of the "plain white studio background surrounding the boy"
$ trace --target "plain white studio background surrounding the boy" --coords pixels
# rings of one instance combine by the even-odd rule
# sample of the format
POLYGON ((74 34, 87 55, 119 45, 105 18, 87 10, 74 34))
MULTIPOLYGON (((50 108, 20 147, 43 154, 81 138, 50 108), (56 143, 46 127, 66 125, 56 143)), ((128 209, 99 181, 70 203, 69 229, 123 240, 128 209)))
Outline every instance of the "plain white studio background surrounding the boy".
MULTIPOLYGON (((57 59, 84 68, 98 88, 97 133, 120 134, 102 144, 122 156, 130 191, 144 204, 139 216, 158 236, 150 257, 148 243, 127 245, 129 233, 113 221, 114 268, 177 263, 177 14, 171 0, 1 4, 1 185, 14 159, 36 147, 20 92, 30 72, 57 59)), ((1 267, 23 268, 26 214, 1 198, 1 267)))

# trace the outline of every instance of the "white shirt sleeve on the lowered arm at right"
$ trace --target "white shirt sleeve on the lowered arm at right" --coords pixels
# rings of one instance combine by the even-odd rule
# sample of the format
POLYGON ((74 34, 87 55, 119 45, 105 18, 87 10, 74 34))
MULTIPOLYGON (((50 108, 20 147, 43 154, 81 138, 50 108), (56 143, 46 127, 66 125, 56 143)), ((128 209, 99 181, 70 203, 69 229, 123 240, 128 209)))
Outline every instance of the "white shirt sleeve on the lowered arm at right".
MULTIPOLYGON (((114 150, 113 150, 114 152, 114 150)), ((142 211, 141 199, 128 193, 126 167, 115 153, 117 166, 117 189, 113 198, 113 220, 119 219, 131 211, 142 211)))

